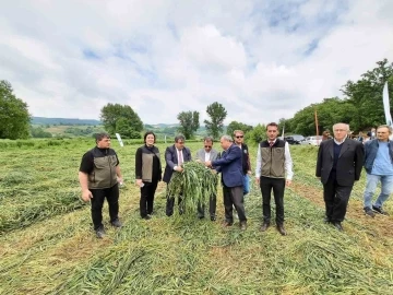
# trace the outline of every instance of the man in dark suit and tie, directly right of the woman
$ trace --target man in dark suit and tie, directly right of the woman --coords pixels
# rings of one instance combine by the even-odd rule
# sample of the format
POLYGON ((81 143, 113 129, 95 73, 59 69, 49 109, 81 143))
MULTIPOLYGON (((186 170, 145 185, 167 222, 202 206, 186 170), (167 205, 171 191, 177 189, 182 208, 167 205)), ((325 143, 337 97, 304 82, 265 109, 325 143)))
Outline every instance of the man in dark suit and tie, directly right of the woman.
MULTIPOLYGON (((167 185, 170 181, 174 170, 175 172, 182 172, 183 168, 181 165, 184 162, 191 161, 191 152, 190 149, 184 146, 186 138, 183 135, 177 135, 175 138, 175 144, 168 146, 165 151, 165 161, 166 167, 164 172, 163 181, 167 185)), ((181 198, 179 198, 178 205, 179 212, 182 213, 182 209, 180 208, 181 198)), ((166 214, 167 216, 171 216, 174 214, 174 205, 175 205, 175 197, 167 196, 167 203, 166 203, 166 214)))

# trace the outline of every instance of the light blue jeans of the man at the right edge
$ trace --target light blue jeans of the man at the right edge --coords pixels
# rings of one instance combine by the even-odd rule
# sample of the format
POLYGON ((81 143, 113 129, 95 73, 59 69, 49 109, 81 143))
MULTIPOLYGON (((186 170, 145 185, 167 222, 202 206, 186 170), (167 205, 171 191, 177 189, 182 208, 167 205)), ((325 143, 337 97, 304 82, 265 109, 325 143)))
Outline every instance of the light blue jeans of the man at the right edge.
POLYGON ((393 192, 393 175, 372 175, 367 174, 367 184, 365 190, 365 208, 371 208, 371 200, 377 190, 378 182, 381 181, 381 193, 374 203, 376 206, 382 208, 389 196, 393 192))

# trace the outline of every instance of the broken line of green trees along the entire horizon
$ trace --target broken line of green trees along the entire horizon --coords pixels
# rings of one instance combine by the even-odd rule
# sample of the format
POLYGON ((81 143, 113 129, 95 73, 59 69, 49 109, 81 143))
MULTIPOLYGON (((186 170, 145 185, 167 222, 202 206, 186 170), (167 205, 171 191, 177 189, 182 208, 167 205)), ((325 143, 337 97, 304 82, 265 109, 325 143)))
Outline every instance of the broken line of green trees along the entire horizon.
MULTIPOLYGON (((285 133, 303 135, 315 134, 314 114, 318 115, 320 133, 331 129, 336 122, 349 123, 350 129, 358 131, 369 130, 385 123, 382 90, 388 82, 391 111, 393 106, 393 63, 388 59, 377 62, 377 67, 361 74, 358 81, 347 81, 341 88, 344 97, 324 98, 321 103, 311 104, 297 111, 293 118, 281 118, 279 128, 285 127, 285 133)), ((227 116, 225 107, 215 102, 206 107, 209 119, 203 122, 206 133, 218 140, 224 131, 224 120, 227 116)), ((196 110, 181 111, 177 115, 179 127, 177 131, 186 139, 193 139, 200 128, 200 113, 196 110)), ((144 126, 129 105, 107 104, 100 110, 100 120, 105 130, 110 133, 120 133, 124 139, 140 139, 144 126)), ((243 122, 231 121, 226 130, 233 134, 234 130, 243 130, 246 140, 259 142, 264 139, 265 125, 255 127, 243 122)), ((26 139, 28 137, 49 137, 41 129, 31 127, 31 115, 27 104, 17 98, 8 81, 0 81, 0 139, 26 139)))

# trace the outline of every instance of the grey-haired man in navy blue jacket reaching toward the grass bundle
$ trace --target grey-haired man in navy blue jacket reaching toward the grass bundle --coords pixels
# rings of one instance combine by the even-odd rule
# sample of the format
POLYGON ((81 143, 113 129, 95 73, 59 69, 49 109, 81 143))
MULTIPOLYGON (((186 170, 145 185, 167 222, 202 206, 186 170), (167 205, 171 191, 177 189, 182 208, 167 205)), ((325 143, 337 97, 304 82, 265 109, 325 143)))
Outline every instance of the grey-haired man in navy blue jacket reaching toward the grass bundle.
POLYGON ((234 224, 234 205, 239 216, 240 228, 247 229, 247 219, 243 205, 243 174, 242 174, 242 152, 237 146, 231 137, 224 135, 221 138, 221 145, 225 150, 219 160, 206 161, 206 166, 213 166, 222 173, 225 223, 224 226, 234 224))

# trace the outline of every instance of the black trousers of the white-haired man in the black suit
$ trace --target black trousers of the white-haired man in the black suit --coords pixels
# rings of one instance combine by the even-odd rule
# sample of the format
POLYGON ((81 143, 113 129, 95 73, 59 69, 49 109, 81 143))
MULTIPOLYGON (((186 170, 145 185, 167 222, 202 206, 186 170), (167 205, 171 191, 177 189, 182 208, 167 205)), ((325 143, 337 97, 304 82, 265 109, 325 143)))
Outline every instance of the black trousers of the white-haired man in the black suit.
POLYGON ((335 172, 333 170, 330 174, 327 182, 323 185, 323 200, 327 220, 331 222, 344 221, 353 187, 340 186, 335 172))

